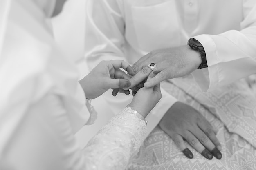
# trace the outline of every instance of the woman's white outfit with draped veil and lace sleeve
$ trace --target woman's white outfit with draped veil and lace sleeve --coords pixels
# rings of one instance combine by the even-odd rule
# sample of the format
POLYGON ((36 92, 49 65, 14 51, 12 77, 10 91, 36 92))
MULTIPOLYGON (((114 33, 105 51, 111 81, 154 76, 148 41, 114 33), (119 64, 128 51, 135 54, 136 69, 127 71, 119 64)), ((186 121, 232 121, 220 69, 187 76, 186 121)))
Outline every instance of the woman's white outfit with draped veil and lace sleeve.
POLYGON ((76 66, 61 54, 33 0, 7 1, 8 15, 0 15, 0 169, 126 168, 145 121, 125 108, 82 150, 74 134, 92 116, 76 66))

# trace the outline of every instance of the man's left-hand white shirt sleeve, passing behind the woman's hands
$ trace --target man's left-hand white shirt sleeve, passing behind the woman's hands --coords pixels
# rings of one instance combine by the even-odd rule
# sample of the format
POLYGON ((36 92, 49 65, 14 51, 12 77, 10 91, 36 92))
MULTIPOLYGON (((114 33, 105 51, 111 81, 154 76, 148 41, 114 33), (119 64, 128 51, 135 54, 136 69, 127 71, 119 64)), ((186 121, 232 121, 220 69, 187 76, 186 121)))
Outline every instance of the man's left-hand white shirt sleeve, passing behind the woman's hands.
MULTIPOLYGON (((125 14, 122 1, 119 0, 88 0, 86 4, 85 29, 85 58, 88 67, 92 69, 101 60, 124 60, 133 64, 139 58, 128 56, 128 47, 125 47, 125 14), (126 48, 126 49, 125 49, 126 48)), ((130 37, 131 38, 131 37, 130 37)), ((142 55, 141 55, 142 57, 142 55)), ((177 101, 175 97, 162 91, 162 99, 148 114, 148 134, 157 126, 166 111, 177 101)), ((110 108, 117 110, 124 108, 132 96, 123 97, 118 94, 115 98, 110 94, 104 95, 110 108)))

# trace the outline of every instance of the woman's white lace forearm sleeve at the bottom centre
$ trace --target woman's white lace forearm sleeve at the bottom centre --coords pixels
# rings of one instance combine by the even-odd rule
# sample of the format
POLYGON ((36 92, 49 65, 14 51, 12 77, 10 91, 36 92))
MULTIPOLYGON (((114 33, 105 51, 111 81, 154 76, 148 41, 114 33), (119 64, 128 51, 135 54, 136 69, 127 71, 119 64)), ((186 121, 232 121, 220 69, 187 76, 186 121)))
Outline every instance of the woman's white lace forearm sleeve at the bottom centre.
POLYGON ((84 148, 86 169, 123 170, 137 153, 146 135, 146 122, 137 112, 124 108, 84 148))

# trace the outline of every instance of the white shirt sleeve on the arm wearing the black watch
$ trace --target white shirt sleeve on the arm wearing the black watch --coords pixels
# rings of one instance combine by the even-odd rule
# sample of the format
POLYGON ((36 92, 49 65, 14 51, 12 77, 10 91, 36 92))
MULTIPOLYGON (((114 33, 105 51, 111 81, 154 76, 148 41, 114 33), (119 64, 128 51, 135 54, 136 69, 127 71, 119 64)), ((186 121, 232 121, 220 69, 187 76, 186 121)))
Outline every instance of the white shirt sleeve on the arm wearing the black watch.
POLYGON ((256 73, 256 3, 243 2, 241 30, 219 35, 198 35, 206 52, 208 68, 194 71, 193 77, 207 92, 256 73))

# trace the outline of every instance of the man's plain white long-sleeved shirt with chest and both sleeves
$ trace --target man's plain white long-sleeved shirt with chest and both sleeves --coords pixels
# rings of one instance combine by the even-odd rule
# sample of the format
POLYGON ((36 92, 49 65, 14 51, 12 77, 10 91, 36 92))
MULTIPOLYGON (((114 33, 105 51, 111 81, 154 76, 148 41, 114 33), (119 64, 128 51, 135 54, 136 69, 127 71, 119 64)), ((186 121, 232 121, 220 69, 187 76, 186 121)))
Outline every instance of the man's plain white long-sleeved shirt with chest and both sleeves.
MULTIPOLYGON (((193 73, 203 91, 256 70, 255 0, 88 0, 86 17, 90 69, 101 60, 122 59, 132 65, 154 49, 185 45, 194 37, 205 47, 209 66, 193 73), (243 73, 241 68, 246 68, 243 73)), ((162 99, 147 117, 148 133, 177 101, 161 91, 162 99)), ((106 100, 123 107, 131 98, 118 94, 106 100)))

